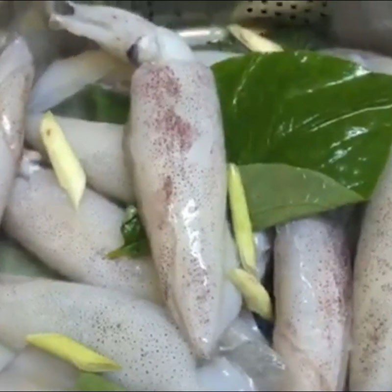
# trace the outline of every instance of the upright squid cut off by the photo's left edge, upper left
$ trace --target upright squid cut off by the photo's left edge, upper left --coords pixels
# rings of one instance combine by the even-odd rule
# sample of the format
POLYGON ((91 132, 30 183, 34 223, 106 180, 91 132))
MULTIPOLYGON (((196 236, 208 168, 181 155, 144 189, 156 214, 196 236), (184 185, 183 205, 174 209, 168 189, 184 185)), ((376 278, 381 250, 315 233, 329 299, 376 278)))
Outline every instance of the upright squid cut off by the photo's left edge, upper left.
POLYGON ((34 70, 22 38, 0 55, 0 221, 14 182, 25 133, 25 106, 34 70))

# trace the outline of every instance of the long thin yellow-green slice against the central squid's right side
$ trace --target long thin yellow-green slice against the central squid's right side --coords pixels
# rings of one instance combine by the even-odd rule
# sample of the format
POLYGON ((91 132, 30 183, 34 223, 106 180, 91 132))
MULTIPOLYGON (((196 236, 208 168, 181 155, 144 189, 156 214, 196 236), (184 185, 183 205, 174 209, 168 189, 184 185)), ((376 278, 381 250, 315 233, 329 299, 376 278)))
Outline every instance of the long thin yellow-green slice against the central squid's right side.
POLYGON ((234 237, 241 264, 246 271, 256 274, 256 249, 253 241, 252 224, 241 173, 234 164, 228 166, 228 190, 234 237))

